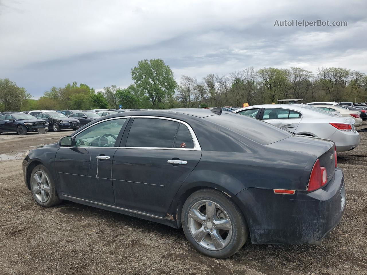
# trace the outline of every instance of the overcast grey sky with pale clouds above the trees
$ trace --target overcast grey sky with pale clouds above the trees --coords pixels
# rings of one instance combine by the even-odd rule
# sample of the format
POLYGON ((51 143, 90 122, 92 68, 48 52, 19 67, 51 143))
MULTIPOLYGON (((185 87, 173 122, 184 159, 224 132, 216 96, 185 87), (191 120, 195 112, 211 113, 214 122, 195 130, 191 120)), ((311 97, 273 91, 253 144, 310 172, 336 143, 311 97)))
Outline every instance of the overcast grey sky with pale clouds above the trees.
POLYGON ((345 67, 367 73, 367 1, 0 0, 0 78, 38 98, 77 81, 127 87, 138 60, 179 81, 244 67, 345 67), (276 20, 346 27, 274 26, 276 20))

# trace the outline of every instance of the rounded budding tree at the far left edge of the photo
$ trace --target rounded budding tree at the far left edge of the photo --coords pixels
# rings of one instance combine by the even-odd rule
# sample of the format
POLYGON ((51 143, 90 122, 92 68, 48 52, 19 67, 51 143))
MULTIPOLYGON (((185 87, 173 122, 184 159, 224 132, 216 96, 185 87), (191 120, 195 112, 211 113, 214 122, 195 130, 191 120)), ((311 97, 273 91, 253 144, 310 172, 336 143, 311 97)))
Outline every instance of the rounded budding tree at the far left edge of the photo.
POLYGON ((0 103, 4 104, 4 111, 20 110, 25 100, 30 98, 25 88, 18 87, 9 78, 0 79, 0 103))

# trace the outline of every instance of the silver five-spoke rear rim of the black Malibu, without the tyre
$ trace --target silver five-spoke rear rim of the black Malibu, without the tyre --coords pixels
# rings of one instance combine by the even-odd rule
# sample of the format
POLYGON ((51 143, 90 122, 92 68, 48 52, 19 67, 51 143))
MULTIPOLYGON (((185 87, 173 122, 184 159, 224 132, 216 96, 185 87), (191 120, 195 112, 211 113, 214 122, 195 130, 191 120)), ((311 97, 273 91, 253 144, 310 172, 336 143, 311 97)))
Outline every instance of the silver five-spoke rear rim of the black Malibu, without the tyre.
POLYGON ((209 250, 223 249, 232 236, 228 214, 212 201, 196 202, 189 211, 188 225, 195 241, 209 250))

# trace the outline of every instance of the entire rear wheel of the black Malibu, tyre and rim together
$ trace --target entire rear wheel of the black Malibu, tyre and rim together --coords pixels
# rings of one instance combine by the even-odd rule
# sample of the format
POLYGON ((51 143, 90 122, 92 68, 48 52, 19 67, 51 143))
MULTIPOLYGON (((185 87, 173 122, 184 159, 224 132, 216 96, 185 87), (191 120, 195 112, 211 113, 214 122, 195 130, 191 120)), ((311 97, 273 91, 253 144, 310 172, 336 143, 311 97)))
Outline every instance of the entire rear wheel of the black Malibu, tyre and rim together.
POLYGON ((181 223, 186 238, 195 249, 214 258, 232 256, 248 237, 247 223, 240 209, 228 195, 217 190, 201 189, 191 194, 183 205, 181 223), (206 213, 209 207, 214 209, 214 215, 206 213), (199 216, 193 214, 195 209, 199 210, 199 216))

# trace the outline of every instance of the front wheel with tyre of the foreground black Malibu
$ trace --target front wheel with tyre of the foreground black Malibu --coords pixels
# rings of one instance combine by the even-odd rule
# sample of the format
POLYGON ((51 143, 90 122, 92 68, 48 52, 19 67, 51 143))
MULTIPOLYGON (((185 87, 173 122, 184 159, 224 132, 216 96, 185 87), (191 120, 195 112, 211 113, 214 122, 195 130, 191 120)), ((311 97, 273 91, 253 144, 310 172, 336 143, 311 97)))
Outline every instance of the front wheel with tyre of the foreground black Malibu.
POLYGON ((30 175, 30 190, 34 200, 43 207, 58 205, 62 201, 57 194, 51 173, 43 165, 34 167, 30 175))

